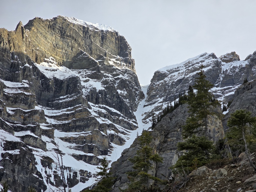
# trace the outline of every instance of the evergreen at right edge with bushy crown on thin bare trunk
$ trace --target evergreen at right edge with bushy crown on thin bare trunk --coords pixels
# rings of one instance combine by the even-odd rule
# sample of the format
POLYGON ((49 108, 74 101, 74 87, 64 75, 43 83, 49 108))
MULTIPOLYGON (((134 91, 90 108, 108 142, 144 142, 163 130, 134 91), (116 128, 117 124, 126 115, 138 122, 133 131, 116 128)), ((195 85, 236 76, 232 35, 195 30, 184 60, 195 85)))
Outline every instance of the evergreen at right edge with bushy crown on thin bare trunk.
POLYGON ((250 111, 246 112, 245 110, 236 110, 234 113, 230 115, 227 125, 230 127, 229 132, 232 133, 231 135, 233 137, 240 137, 242 139, 247 159, 250 162, 250 165, 256 171, 256 166, 251 161, 247 141, 248 136, 254 134, 252 138, 254 139, 255 142, 255 123, 256 117, 253 117, 250 111))

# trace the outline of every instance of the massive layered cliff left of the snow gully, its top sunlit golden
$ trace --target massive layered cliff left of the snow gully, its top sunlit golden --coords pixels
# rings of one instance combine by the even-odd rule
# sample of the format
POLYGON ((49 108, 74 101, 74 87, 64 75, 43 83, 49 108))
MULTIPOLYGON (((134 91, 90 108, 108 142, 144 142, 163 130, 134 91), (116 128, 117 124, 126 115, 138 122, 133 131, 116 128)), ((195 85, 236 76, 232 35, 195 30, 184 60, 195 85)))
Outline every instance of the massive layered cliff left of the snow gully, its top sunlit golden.
POLYGON ((57 145, 68 186, 85 188, 138 127, 144 94, 131 47, 111 27, 58 16, 2 28, 0 68, 0 181, 12 191, 62 185, 57 145))

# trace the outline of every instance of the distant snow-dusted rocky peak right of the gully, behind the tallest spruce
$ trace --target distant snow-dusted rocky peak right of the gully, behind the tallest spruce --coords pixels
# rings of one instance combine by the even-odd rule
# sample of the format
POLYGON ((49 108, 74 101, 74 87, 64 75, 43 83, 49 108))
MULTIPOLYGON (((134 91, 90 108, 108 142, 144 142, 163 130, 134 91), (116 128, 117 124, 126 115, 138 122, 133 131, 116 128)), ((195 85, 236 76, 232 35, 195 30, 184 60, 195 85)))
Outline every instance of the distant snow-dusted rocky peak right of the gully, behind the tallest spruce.
POLYGON ((200 65, 204 65, 207 79, 214 84, 212 92, 215 98, 227 103, 232 99, 234 91, 243 83, 245 78, 251 81, 255 78, 256 52, 246 60, 240 61, 236 52, 216 57, 214 53, 204 53, 190 58, 177 65, 166 66, 157 70, 147 90, 144 122, 153 112, 158 114, 170 101, 178 98, 178 94, 193 85, 200 65), (159 98, 159 99, 156 99, 159 98))

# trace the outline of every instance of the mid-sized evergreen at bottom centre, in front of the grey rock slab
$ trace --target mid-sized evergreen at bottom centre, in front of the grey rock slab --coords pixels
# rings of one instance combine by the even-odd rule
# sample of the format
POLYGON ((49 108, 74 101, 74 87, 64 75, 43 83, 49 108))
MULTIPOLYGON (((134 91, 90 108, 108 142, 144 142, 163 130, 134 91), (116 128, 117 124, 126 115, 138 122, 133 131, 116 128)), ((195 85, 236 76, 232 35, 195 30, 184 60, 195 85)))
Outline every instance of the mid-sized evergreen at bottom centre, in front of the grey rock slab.
POLYGON ((148 173, 154 168, 152 162, 157 164, 163 161, 163 158, 158 154, 153 154, 153 148, 150 147, 152 139, 151 133, 148 131, 143 131, 142 135, 138 138, 140 147, 136 152, 136 156, 129 159, 133 163, 134 171, 126 173, 131 182, 129 190, 148 188, 150 179, 160 181, 159 178, 148 173))

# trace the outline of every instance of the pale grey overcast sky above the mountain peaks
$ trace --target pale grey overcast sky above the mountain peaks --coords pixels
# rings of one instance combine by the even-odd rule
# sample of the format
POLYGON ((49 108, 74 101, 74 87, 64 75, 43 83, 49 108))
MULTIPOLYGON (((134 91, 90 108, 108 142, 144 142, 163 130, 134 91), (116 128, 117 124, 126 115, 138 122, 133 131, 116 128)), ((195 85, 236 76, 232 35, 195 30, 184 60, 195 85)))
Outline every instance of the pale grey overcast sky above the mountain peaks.
POLYGON ((254 0, 2 0, 0 28, 21 20, 57 15, 113 27, 132 47, 141 84, 154 72, 204 52, 217 57, 236 51, 240 59, 256 50, 254 0))

